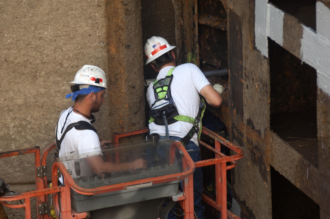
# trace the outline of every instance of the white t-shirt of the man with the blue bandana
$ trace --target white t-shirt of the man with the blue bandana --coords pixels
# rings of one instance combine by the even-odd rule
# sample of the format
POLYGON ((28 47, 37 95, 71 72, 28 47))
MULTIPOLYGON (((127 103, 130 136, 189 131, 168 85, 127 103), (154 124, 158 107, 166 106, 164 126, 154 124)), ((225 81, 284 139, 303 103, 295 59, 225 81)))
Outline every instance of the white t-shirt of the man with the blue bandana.
MULTIPOLYGON (((86 119, 82 115, 72 111, 72 107, 64 110, 58 121, 57 138, 62 137, 66 127, 71 123, 79 121, 86 121, 90 123, 90 120, 86 119), (69 115, 68 115, 69 114, 69 115), (63 129, 62 129, 63 128, 63 129)), ((102 154, 100 147, 100 140, 97 133, 90 129, 77 130, 75 127, 70 129, 64 136, 59 151, 59 157, 64 159, 65 156, 72 156, 84 153, 92 153, 93 155, 102 154)), ((91 154, 89 154, 90 156, 91 154)), ((84 157, 83 155, 81 157, 84 157)), ((74 161, 63 161, 63 164, 67 169, 71 169, 72 177, 76 177, 74 161)), ((92 171, 87 163, 80 159, 81 176, 90 176, 92 171)))

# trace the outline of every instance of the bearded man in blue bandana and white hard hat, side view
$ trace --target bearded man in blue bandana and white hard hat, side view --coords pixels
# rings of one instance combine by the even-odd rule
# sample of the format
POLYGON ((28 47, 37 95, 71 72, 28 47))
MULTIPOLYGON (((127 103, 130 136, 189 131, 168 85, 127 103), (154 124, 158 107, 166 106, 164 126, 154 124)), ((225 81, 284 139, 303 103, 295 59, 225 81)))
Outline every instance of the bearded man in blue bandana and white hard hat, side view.
MULTIPOLYGON (((72 98, 74 106, 64 110, 56 126, 56 151, 55 156, 66 156, 67 154, 81 154, 95 152, 100 156, 91 156, 87 159, 89 171, 82 176, 90 174, 101 174, 102 172, 119 172, 146 168, 147 162, 138 159, 127 163, 105 162, 101 152, 102 147, 111 141, 100 141, 96 129, 92 126, 95 121, 92 113, 98 112, 104 102, 107 79, 101 68, 92 65, 84 65, 76 73, 75 79, 70 82, 72 93, 66 98, 72 98), (73 125, 76 125, 73 127, 73 125), (71 127, 71 129, 69 129, 71 127)), ((75 176, 73 171, 72 177, 75 176)))

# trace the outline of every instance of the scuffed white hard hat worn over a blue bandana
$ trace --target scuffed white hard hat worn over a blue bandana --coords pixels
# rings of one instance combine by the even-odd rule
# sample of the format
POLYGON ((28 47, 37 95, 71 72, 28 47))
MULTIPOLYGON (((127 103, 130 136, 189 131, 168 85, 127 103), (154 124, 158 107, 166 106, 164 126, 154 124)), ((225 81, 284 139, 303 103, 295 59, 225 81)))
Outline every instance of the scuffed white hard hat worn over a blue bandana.
POLYGON ((75 80, 70 84, 86 84, 107 88, 107 79, 104 71, 96 66, 84 65, 76 73, 75 80))

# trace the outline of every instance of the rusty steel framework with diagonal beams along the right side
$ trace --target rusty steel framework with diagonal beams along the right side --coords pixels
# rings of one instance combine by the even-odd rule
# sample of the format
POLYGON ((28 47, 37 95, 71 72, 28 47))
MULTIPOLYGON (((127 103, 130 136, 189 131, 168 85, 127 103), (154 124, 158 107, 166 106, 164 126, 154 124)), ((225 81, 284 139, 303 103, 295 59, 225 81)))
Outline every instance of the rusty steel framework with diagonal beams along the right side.
MULTIPOLYGON (((278 2, 284 4, 284 1, 278 2)), ((308 13, 309 9, 303 7, 304 4, 296 3, 298 3, 295 5, 298 9, 301 7, 305 13, 308 13)), ((259 48, 256 46, 255 34, 257 28, 260 27, 255 27, 255 22, 257 22, 255 16, 256 10, 262 10, 260 1, 258 1, 259 5, 254 1, 228 1, 227 4, 230 91, 228 113, 230 119, 226 120, 225 123, 231 127, 230 136, 233 142, 245 151, 245 157, 238 162, 237 168, 232 173, 234 198, 238 199, 240 203, 241 217, 272 218, 275 215, 272 214, 274 211, 272 208, 278 203, 272 205, 272 202, 275 201, 272 200, 272 192, 278 190, 275 187, 272 188, 276 185, 271 184, 271 175, 272 177, 279 175, 271 174, 271 171, 276 171, 293 187, 301 191, 304 198, 307 197, 312 200, 313 206, 316 206, 316 211, 313 209, 313 212, 316 212, 313 215, 315 218, 328 218, 330 215, 328 212, 330 191, 327 185, 330 180, 328 171, 330 162, 329 147, 325 145, 329 144, 327 134, 329 133, 329 125, 326 124, 330 113, 329 96, 318 87, 322 83, 316 81, 317 69, 313 70, 310 66, 304 66, 305 64, 301 60, 299 61, 299 59, 303 59, 301 51, 304 49, 301 44, 304 27, 302 28, 302 24, 298 20, 301 18, 299 16, 294 17, 285 10, 276 11, 277 9, 268 5, 271 10, 278 12, 276 15, 279 17, 283 13, 284 21, 283 27, 281 27, 281 31, 283 31, 282 41, 279 41, 278 32, 271 32, 274 31, 272 28, 275 28, 274 26, 277 24, 272 20, 275 15, 274 17, 270 16, 270 25, 267 27, 270 28, 270 33, 274 33, 274 36, 268 36, 270 38, 268 41, 277 41, 276 43, 279 45, 276 46, 282 46, 291 53, 291 55, 281 52, 274 53, 276 49, 269 47, 267 50, 269 49, 273 54, 268 56, 268 51, 265 55, 260 49, 260 45, 259 48), (275 39, 271 39, 272 37, 275 39), (290 57, 292 54, 298 58, 298 61, 294 61, 290 57), (282 61, 276 62, 278 59, 282 59, 282 61), (271 66, 270 62, 272 62, 271 66), (299 72, 298 75, 295 72, 299 72), (271 99, 271 94, 274 99, 271 99), (282 105, 282 103, 285 104, 282 105), (290 145, 286 139, 283 140, 283 137, 279 137, 272 129, 271 124, 271 109, 274 110, 273 112, 281 110, 301 111, 304 108, 315 106, 317 108, 317 127, 316 125, 311 126, 307 122, 309 120, 304 118, 301 118, 299 124, 309 128, 310 133, 314 131, 316 133, 317 130, 315 147, 307 143, 300 145, 301 148, 312 147, 310 150, 312 150, 313 155, 315 150, 316 154, 318 151, 318 155, 316 155, 318 156, 316 158, 318 163, 316 165, 306 155, 290 145)), ((311 10, 311 14, 313 14, 313 10, 311 10)), ((263 22, 263 20, 258 21, 263 22)), ((325 40, 325 42, 328 41, 325 40)), ((271 44, 271 46, 274 45, 271 44)), ((325 43, 325 50, 322 51, 321 49, 320 52, 327 51, 327 46, 328 44, 325 43)), ((325 56, 327 57, 328 54, 325 56)), ((315 66, 317 68, 317 65, 315 66)), ((316 118, 316 114, 306 114, 305 118, 314 116, 316 118)), ((281 202, 281 200, 277 201, 281 202)), ((297 202, 290 205, 297 205, 299 208, 300 204, 297 202)), ((292 213, 294 210, 291 209, 291 211, 286 212, 292 213)))

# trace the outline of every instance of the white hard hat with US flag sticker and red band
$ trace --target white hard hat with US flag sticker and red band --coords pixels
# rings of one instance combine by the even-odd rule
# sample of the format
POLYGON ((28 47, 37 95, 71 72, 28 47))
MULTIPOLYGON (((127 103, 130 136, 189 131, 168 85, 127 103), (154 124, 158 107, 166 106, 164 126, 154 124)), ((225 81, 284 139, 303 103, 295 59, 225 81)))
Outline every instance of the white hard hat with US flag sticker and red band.
POLYGON ((168 41, 162 37, 153 36, 149 38, 144 47, 144 52, 147 57, 146 65, 175 47, 176 46, 171 46, 168 41))

